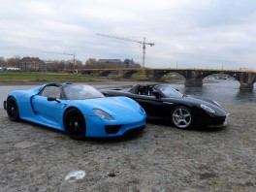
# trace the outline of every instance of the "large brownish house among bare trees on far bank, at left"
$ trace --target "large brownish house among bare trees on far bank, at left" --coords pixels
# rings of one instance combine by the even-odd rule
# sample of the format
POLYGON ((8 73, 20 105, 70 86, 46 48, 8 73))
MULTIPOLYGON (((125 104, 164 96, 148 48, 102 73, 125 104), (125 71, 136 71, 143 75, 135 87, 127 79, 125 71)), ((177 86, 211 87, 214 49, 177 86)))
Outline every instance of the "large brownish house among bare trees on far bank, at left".
POLYGON ((45 70, 45 62, 38 57, 23 57, 18 60, 19 68, 22 71, 42 72, 45 70))

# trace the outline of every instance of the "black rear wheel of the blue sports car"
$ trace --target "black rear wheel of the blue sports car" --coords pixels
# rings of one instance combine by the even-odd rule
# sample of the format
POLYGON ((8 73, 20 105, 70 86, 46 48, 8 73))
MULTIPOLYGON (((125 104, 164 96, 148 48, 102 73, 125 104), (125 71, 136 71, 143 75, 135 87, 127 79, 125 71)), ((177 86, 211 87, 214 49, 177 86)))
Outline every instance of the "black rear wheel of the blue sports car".
POLYGON ((9 97, 7 99, 6 111, 7 111, 8 117, 12 121, 18 121, 19 120, 18 107, 17 107, 17 104, 16 104, 16 99, 14 97, 9 97))

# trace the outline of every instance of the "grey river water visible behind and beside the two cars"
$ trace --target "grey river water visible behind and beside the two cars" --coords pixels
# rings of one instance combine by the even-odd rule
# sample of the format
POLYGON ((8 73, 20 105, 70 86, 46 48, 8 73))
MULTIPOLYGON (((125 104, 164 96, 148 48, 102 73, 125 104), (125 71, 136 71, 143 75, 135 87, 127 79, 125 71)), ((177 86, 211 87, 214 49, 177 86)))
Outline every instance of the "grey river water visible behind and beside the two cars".
MULTIPOLYGON (((127 81, 129 84, 129 81, 127 81)), ((237 80, 216 80, 204 83, 203 86, 184 86, 184 84, 172 83, 174 88, 185 95, 195 95, 213 99, 220 104, 245 104, 256 103, 256 89, 240 90, 240 82, 237 80)), ((8 93, 16 89, 29 89, 37 85, 4 85, 0 86, 0 109, 3 109, 3 101, 8 93)), ((96 88, 113 87, 114 85, 93 85, 96 88)), ((121 85, 116 85, 121 86, 121 85)))

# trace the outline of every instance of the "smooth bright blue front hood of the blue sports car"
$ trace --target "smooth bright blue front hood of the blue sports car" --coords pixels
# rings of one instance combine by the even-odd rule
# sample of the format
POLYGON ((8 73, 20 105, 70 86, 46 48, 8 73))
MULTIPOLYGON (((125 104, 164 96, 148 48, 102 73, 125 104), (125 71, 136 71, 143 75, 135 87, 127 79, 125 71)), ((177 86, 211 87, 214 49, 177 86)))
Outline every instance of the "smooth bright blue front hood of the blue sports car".
POLYGON ((92 110, 99 109, 115 116, 125 116, 140 112, 139 105, 127 97, 104 97, 96 99, 76 100, 76 106, 83 114, 95 115, 92 110))

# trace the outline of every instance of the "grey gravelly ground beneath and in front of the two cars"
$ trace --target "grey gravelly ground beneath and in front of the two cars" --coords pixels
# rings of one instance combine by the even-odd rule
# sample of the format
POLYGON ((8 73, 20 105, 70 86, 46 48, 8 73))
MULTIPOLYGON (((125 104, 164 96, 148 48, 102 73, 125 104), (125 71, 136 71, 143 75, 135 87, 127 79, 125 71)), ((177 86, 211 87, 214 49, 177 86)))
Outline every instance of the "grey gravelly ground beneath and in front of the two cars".
POLYGON ((82 142, 0 110, 0 191, 256 191, 256 105, 225 109, 222 129, 82 142))

